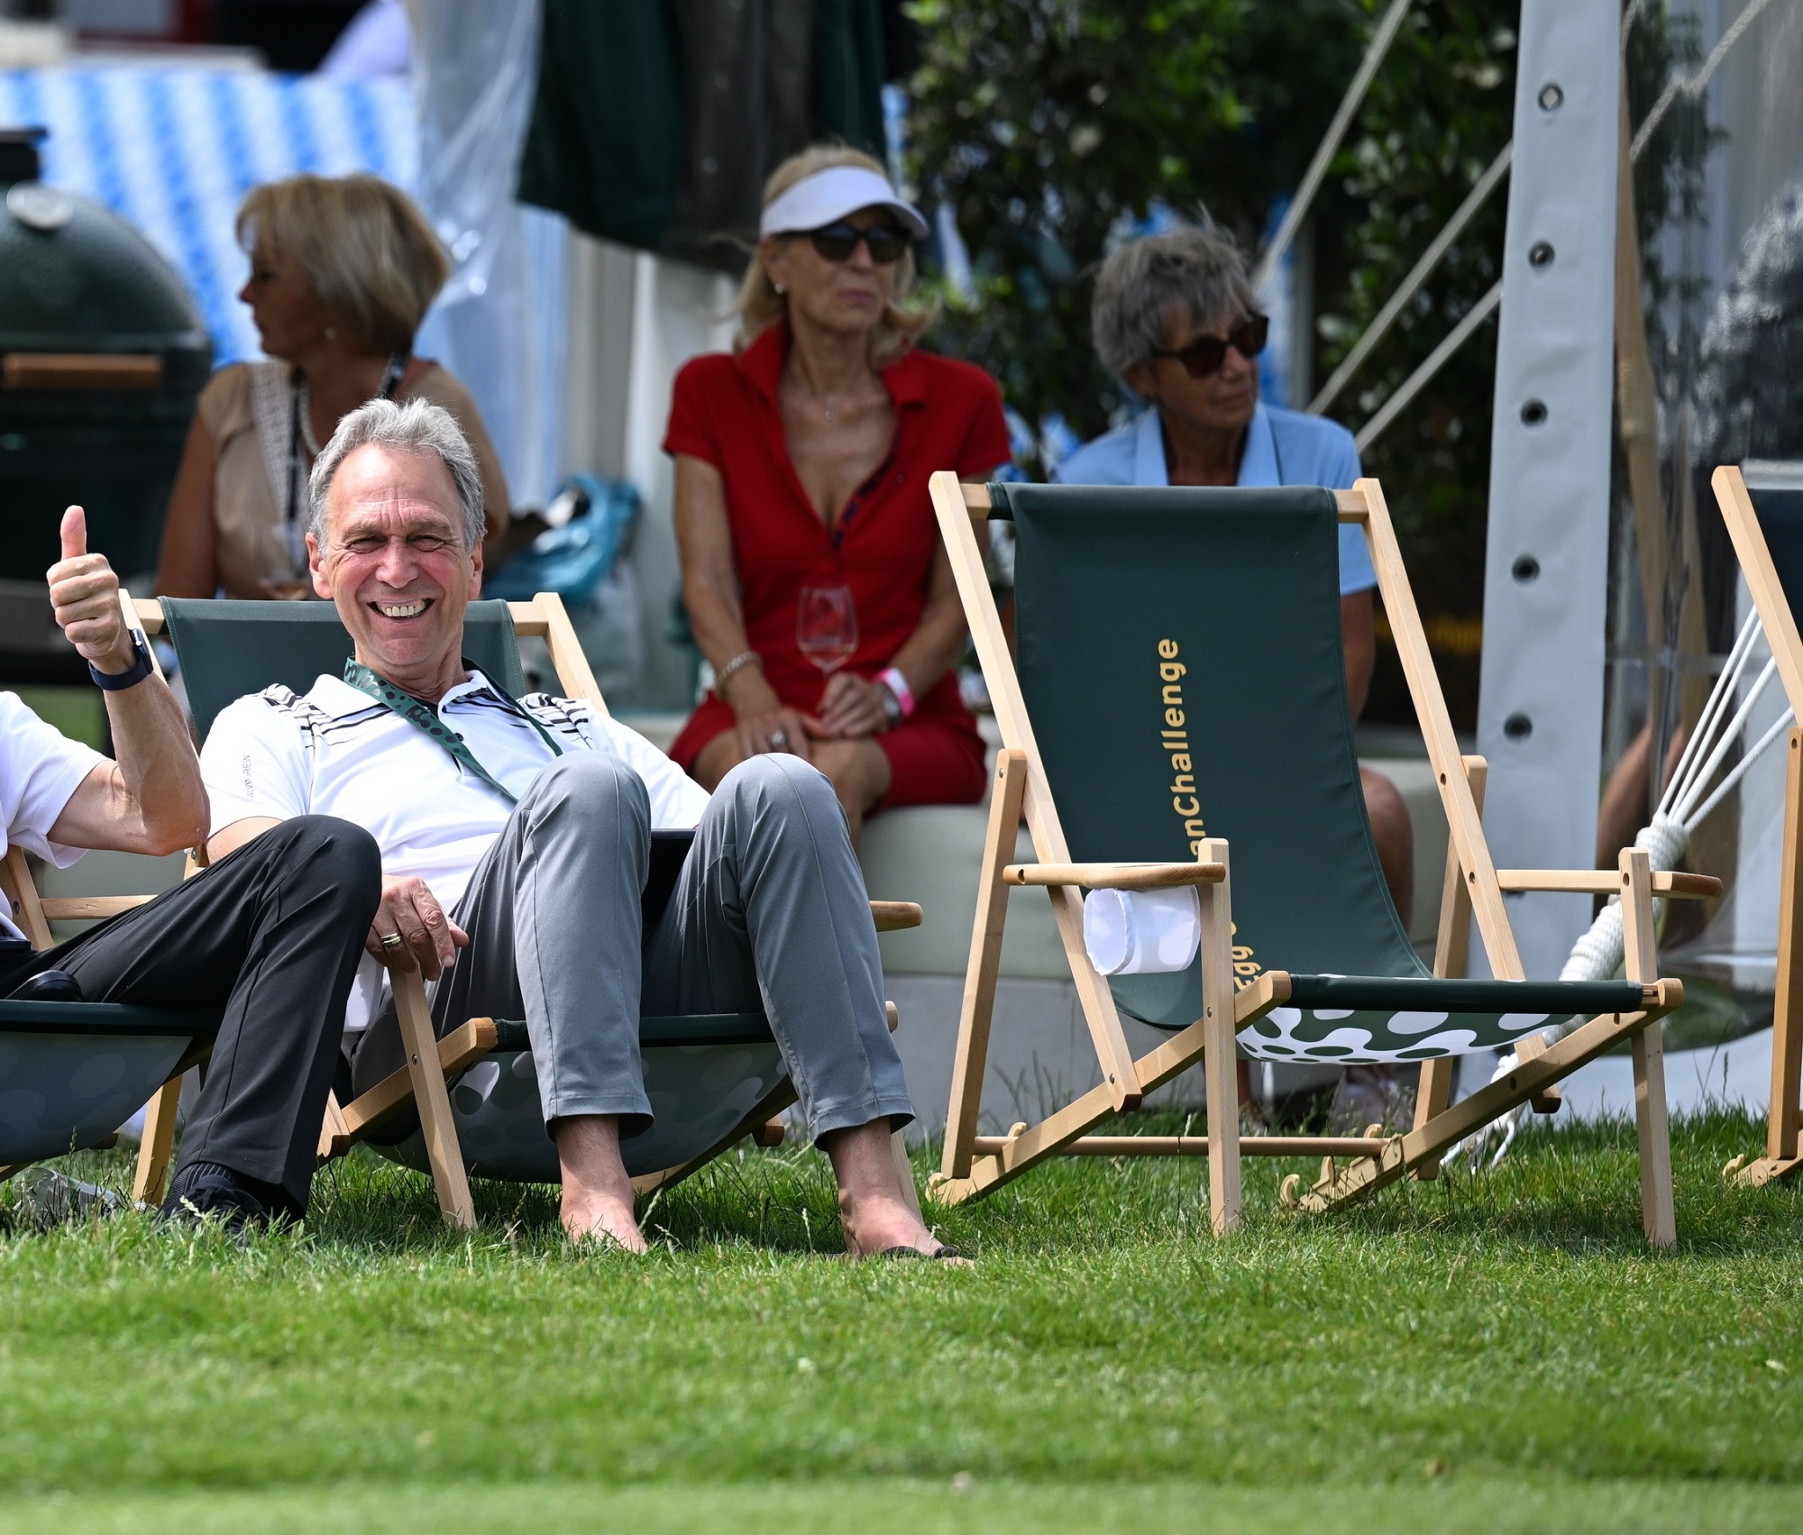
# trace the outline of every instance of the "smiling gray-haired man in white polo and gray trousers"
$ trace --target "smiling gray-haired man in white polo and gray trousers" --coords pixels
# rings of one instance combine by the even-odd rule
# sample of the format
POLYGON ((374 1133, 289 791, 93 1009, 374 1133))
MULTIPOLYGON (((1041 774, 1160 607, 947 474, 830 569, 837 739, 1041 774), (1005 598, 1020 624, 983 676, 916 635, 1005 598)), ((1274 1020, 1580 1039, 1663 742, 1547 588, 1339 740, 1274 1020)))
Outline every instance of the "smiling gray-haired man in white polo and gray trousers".
MULTIPOLYGON (((202 769, 218 852, 330 811, 382 849, 371 960, 445 976, 440 1034, 525 1016, 572 1238, 644 1250, 620 1139, 649 1128, 638 1018, 761 1007, 838 1176, 855 1252, 945 1252, 902 1185, 912 1117, 882 1002, 876 928, 833 786, 797 757, 743 762, 709 796, 577 699, 508 697, 462 659, 481 587, 481 483, 436 405, 348 414, 310 481, 314 589, 355 645, 305 697, 238 699, 202 769), (653 827, 696 840, 642 931, 653 827), (458 951, 463 949, 460 955, 458 951)), ((366 967, 352 1090, 404 1063, 366 967)))

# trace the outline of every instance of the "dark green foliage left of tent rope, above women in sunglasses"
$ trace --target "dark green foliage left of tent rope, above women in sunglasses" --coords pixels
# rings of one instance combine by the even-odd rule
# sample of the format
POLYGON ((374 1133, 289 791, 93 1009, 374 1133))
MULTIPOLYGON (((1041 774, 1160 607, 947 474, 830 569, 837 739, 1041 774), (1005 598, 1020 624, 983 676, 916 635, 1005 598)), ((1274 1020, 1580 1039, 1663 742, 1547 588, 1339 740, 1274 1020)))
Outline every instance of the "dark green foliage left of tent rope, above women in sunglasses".
POLYGON ((923 0, 911 173, 948 204, 974 294, 939 344, 1031 425, 1102 431, 1120 387, 1089 346, 1089 283, 1156 207, 1242 241, 1307 164, 1358 65, 1356 0, 923 0))

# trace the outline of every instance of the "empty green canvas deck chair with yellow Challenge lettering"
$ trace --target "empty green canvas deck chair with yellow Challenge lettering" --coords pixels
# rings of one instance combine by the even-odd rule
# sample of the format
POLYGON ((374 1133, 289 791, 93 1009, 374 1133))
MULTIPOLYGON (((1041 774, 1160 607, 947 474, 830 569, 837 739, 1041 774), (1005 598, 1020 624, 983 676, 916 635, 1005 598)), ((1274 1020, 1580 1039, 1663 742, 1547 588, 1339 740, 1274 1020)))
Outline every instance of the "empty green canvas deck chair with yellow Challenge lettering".
MULTIPOLYGON (((1055 1155, 1208 1155, 1217 1231, 1240 1216, 1242 1155, 1318 1155, 1320 1180, 1286 1193, 1323 1211, 1439 1157, 1498 1113, 1634 1041, 1648 1238, 1675 1241, 1659 1031, 1682 1000, 1653 973, 1644 852, 1619 872, 1498 872, 1473 780, 1397 553, 1383 492, 961 486, 932 501, 988 681, 1002 751, 965 978, 945 1164, 932 1193, 966 1200, 1055 1155), (1015 526, 1019 672, 972 522, 1015 526), (1372 845, 1347 713, 1338 522, 1367 537, 1390 629, 1451 827, 1441 940, 1430 973, 1408 944, 1372 845), (1010 863, 1026 813, 1037 863, 1010 863), (1228 849, 1231 847, 1231 861, 1228 849), (1046 886, 1102 1081, 1006 1137, 979 1135, 983 1076, 1010 886, 1046 886), (1194 885, 1199 964, 1103 980, 1084 948, 1080 888, 1194 885), (1628 978, 1525 982, 1506 890, 1621 890, 1628 978), (1464 980, 1475 917, 1489 967, 1464 980), (1134 1059, 1127 1013, 1170 1038, 1134 1059), (1448 1108, 1453 1059, 1540 1045, 1549 1018, 1588 1018, 1509 1077, 1448 1108), (1533 1045, 1529 1045, 1533 1040, 1533 1045), (1271 1061, 1421 1061, 1414 1128, 1392 1137, 1242 1137, 1235 1043, 1271 1061), (1087 1137, 1105 1115, 1206 1056, 1204 1137, 1087 1137), (1215 1068, 1215 1063, 1221 1068, 1215 1068)), ((1524 1056, 1527 1054, 1524 1050, 1524 1056)))

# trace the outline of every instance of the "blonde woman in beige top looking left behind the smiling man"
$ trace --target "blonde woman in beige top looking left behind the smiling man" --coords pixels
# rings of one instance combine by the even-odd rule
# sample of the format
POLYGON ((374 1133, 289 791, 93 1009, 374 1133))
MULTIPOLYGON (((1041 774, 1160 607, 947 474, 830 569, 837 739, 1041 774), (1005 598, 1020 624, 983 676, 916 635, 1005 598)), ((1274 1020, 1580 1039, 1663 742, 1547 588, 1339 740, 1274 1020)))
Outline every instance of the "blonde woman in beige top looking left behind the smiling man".
POLYGON ((238 243, 263 351, 200 391, 162 530, 162 596, 303 596, 307 474, 339 418, 366 400, 444 405, 481 465, 489 544, 508 521, 507 479, 469 391, 413 355, 449 265, 426 216, 375 177, 290 177, 256 187, 238 243))

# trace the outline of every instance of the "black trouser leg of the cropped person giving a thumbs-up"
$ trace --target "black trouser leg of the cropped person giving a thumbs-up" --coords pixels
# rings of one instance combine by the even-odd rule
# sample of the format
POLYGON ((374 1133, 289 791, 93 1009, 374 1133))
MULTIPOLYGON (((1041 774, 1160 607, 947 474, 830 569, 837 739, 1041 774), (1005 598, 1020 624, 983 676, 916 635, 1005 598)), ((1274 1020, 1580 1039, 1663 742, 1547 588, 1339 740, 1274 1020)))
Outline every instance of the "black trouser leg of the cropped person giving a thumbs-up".
POLYGON ((297 816, 43 958, 88 1002, 222 1009, 182 1166, 278 1184, 299 1214, 380 895, 380 852, 362 827, 297 816))

